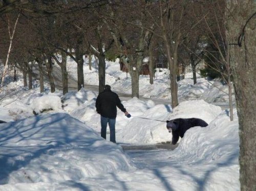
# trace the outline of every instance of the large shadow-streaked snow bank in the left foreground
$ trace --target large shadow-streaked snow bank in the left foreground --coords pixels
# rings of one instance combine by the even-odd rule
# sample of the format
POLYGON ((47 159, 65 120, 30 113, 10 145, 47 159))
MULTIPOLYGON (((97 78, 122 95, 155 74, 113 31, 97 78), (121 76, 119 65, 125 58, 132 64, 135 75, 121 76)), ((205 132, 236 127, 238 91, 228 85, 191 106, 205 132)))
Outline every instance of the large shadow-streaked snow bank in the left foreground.
POLYGON ((0 184, 77 181, 133 169, 120 146, 65 113, 40 114, 0 127, 0 184))

